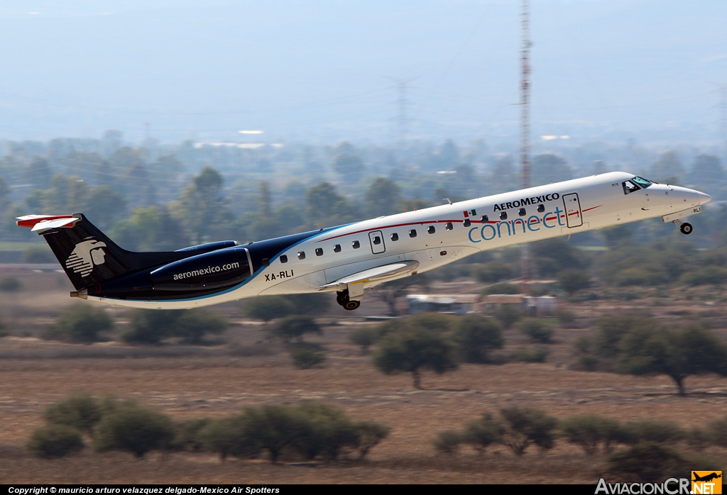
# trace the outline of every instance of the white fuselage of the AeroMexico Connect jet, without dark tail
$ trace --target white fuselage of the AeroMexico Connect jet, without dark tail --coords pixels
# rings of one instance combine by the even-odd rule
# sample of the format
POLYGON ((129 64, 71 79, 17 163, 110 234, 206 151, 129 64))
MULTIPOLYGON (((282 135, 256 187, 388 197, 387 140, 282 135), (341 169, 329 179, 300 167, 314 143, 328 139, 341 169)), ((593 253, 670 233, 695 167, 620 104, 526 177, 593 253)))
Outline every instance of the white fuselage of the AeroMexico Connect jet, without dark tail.
MULTIPOLYGON (((137 308, 194 308, 257 295, 317 292, 342 277, 377 266, 417 261, 418 272, 428 271, 483 250, 690 208, 694 211, 687 213, 698 213, 699 205, 711 199, 702 192, 666 184, 626 194, 622 184, 633 177, 624 172, 603 173, 329 229, 288 247, 270 258, 270 266, 213 295, 164 301, 89 299, 137 308), (506 218, 501 218, 502 213, 506 218), (377 237, 380 241, 375 244, 377 237), (287 258, 285 263, 281 255, 287 258)), ((381 282, 366 287, 377 283, 381 282)))

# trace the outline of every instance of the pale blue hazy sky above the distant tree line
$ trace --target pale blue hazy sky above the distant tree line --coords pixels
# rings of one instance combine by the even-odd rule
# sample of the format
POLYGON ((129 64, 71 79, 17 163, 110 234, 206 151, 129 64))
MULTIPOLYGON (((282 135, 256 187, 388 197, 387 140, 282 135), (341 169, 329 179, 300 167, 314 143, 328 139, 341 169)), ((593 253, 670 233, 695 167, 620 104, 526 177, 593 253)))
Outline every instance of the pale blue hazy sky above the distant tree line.
MULTIPOLYGON (((517 135, 520 1, 3 0, 0 139, 517 135)), ((727 1, 533 0, 534 136, 718 139, 727 1)))

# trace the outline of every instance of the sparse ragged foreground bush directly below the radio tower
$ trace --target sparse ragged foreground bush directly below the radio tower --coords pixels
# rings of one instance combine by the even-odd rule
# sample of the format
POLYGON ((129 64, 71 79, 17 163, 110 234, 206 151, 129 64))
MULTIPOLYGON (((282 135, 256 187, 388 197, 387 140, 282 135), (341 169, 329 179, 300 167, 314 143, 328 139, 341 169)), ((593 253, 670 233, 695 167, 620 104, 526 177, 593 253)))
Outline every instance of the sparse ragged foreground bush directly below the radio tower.
POLYGON ((508 407, 500 409, 505 428, 502 435, 503 445, 515 454, 525 454, 525 449, 534 444, 540 449, 552 449, 555 443, 553 430, 558 420, 548 416, 540 409, 530 407, 508 407))

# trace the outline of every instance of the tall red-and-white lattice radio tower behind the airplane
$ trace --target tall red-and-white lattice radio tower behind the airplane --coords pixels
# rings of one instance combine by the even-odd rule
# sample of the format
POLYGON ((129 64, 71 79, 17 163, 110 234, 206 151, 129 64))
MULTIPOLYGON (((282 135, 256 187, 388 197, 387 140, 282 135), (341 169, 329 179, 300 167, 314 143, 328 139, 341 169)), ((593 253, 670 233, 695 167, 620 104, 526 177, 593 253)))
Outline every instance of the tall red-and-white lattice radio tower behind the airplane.
MULTIPOLYGON (((522 46, 520 49, 520 157, 523 189, 530 187, 530 2, 523 0, 521 12, 522 46)), ((520 276, 523 294, 530 294, 530 250, 521 245, 520 276)))

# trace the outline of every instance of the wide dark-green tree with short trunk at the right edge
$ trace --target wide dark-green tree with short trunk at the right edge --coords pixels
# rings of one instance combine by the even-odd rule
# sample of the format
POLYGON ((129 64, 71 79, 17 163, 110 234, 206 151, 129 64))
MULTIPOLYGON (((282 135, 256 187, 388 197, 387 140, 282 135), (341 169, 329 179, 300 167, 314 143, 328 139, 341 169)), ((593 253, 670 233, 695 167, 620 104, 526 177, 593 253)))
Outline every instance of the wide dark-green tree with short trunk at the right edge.
POLYGON ((727 375, 727 344, 697 325, 680 330, 636 327, 619 343, 616 370, 630 375, 668 375, 686 395, 689 375, 727 375))

